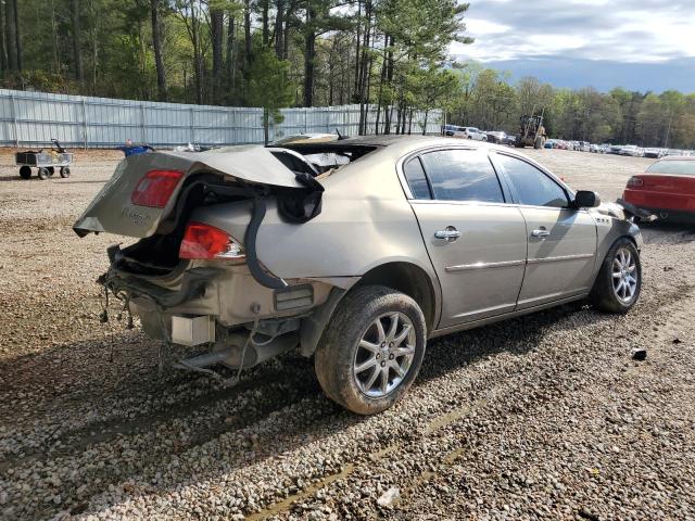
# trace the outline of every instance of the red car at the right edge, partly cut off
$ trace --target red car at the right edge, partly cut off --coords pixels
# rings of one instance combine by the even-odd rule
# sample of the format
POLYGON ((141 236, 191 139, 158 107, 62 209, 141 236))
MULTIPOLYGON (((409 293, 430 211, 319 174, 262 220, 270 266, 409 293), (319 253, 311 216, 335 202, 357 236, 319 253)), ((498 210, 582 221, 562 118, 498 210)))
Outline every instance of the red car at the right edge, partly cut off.
POLYGON ((695 157, 667 156, 632 176, 622 200, 661 219, 695 218, 695 157))

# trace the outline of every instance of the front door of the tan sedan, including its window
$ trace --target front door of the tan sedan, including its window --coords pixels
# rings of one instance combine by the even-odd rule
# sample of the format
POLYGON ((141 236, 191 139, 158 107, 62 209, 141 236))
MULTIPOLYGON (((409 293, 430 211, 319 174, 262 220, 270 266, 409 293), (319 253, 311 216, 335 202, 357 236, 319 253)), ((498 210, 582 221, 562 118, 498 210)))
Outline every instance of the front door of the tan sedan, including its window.
POLYGON ((526 220, 528 259, 518 308, 587 293, 596 259, 596 224, 570 208, 570 194, 522 157, 494 154, 526 220))

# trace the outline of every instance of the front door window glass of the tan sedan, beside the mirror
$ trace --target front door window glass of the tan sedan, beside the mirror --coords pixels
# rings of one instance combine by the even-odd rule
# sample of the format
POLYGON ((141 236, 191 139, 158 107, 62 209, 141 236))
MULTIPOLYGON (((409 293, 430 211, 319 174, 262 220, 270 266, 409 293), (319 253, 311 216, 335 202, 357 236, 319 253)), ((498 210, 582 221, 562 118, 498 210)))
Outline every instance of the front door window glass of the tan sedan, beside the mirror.
POLYGON ((565 189, 545 173, 516 157, 504 154, 498 154, 497 157, 519 195, 519 203, 557 208, 568 206, 565 189))

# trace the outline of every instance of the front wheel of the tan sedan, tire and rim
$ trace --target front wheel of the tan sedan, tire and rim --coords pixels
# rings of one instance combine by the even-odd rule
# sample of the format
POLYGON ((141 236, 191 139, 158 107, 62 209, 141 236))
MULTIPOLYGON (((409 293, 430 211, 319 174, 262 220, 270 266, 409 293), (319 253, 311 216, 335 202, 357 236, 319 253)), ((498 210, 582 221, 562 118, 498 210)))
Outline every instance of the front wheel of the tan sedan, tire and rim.
POLYGON ((628 313, 642 290, 640 252, 629 239, 618 239, 604 259, 590 300, 596 309, 628 313))

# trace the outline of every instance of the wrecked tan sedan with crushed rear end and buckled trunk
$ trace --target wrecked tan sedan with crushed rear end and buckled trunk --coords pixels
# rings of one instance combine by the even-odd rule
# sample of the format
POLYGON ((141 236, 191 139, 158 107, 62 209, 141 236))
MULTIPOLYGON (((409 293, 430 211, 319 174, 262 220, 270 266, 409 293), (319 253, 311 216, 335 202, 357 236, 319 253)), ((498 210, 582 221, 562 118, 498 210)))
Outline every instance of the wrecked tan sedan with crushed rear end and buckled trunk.
POLYGON ((184 367, 299 348, 372 414, 428 339, 582 298, 628 312, 633 220, 510 149, 371 137, 130 156, 74 229, 139 239, 100 280, 148 335, 191 346, 184 367))

